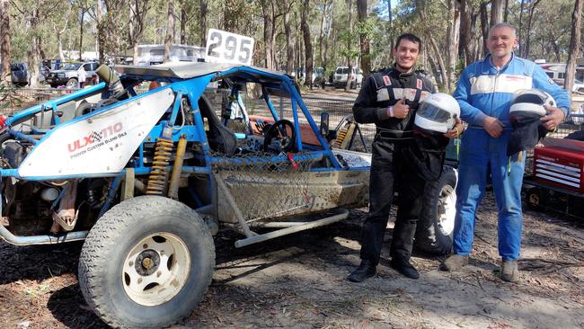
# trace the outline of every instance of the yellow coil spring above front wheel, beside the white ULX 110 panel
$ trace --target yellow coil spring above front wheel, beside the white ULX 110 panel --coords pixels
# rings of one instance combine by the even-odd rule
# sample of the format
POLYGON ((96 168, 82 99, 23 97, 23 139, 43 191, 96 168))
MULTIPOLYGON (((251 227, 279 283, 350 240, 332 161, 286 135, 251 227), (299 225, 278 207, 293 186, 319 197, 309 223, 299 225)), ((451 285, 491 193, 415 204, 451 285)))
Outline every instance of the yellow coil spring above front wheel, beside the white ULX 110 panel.
POLYGON ((156 139, 155 158, 152 162, 152 172, 148 176, 146 194, 163 195, 168 183, 168 164, 173 152, 173 140, 156 139))

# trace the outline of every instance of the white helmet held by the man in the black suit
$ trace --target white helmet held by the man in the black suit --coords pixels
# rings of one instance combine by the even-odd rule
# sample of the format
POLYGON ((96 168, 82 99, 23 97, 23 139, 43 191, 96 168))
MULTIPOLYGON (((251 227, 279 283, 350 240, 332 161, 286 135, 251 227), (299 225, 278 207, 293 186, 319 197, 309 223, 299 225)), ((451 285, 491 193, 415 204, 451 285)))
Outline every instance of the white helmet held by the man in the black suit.
POLYGON ((460 117, 460 106, 447 93, 432 93, 421 102, 413 124, 427 132, 446 133, 456 125, 460 117))

